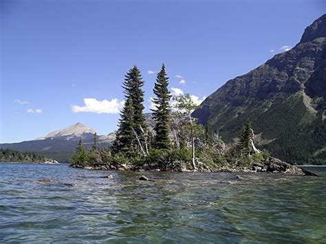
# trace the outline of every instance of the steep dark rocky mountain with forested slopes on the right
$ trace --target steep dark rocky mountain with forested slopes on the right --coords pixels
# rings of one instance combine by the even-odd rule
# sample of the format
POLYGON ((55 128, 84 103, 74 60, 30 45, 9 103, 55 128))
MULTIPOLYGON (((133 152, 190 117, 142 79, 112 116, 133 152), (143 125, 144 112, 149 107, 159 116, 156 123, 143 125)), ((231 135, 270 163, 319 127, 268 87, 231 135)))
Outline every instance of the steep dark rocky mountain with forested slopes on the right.
POLYGON ((228 80, 193 115, 232 141, 252 120, 261 148, 292 164, 326 164, 326 14, 292 49, 228 80))

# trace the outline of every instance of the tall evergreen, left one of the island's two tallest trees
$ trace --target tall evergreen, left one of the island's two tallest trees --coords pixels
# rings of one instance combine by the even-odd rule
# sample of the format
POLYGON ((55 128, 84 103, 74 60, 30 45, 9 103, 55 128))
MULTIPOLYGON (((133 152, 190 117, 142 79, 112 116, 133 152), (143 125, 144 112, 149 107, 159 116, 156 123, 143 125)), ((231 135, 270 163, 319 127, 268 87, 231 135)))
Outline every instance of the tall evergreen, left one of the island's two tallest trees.
POLYGON ((124 88, 124 93, 126 98, 131 98, 133 106, 133 129, 137 135, 142 135, 142 129, 146 129, 146 119, 143 113, 144 111, 144 91, 142 86, 144 85, 144 80, 142 80, 142 75, 138 67, 133 66, 132 69, 124 77, 124 82, 122 87, 124 88), (141 129, 141 128, 142 129, 141 129))

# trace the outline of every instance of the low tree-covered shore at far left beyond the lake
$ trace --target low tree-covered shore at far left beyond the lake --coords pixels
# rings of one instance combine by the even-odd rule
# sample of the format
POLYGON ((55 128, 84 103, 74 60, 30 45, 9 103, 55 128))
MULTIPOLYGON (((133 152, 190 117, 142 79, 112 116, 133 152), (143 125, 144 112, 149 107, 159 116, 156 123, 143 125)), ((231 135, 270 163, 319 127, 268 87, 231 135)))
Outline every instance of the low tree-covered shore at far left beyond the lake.
POLYGON ((36 153, 22 153, 12 149, 0 149, 0 162, 31 162, 43 163, 48 159, 36 153))

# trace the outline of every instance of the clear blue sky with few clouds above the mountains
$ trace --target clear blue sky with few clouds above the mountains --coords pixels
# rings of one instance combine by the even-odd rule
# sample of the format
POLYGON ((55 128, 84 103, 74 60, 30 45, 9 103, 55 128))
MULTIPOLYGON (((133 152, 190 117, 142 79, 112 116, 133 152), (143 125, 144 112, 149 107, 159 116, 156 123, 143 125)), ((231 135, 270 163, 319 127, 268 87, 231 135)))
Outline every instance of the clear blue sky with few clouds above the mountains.
POLYGON ((172 93, 199 103, 300 41, 323 0, 1 0, 0 142, 80 122, 117 129, 124 74, 137 65, 146 112, 162 63, 172 93))

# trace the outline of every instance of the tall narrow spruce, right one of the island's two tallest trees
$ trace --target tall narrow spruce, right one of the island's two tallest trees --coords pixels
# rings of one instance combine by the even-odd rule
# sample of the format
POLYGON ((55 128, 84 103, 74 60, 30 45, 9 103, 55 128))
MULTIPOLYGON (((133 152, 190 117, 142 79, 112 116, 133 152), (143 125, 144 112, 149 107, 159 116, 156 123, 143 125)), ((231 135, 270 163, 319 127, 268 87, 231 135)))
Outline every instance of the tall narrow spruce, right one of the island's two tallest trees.
POLYGON ((153 89, 156 98, 153 98, 155 109, 153 119, 155 120, 155 148, 171 148, 170 124, 171 124, 171 93, 168 89, 169 78, 166 77, 165 66, 162 65, 161 71, 157 74, 153 89))

